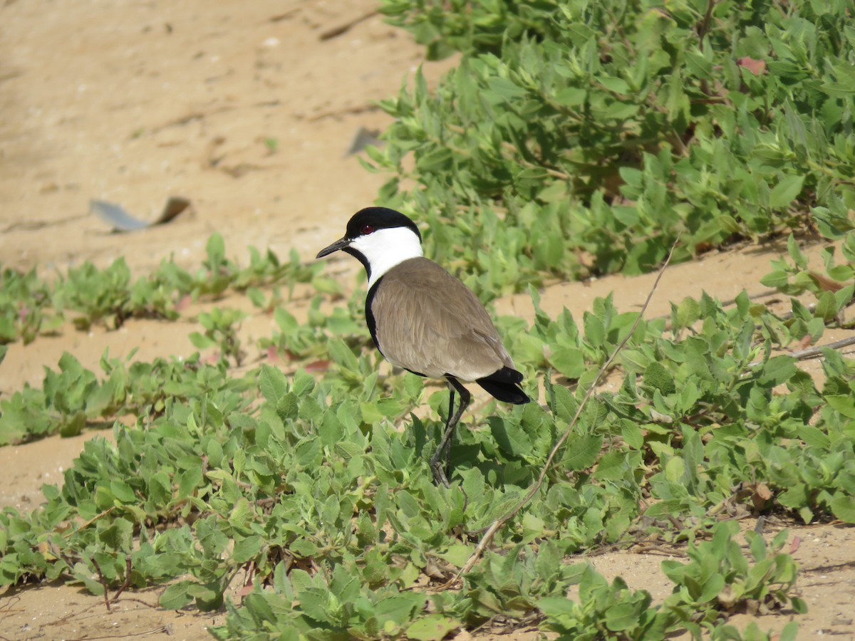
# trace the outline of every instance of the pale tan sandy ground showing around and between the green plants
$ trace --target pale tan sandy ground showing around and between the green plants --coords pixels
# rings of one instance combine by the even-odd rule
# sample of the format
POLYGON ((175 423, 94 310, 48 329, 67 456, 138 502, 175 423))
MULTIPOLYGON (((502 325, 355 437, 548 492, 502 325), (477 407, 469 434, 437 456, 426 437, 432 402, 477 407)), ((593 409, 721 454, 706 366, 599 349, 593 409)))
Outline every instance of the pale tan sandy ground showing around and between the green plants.
MULTIPOLYGON (((372 0, 0 0, 0 262, 48 275, 124 256, 144 273, 168 256, 198 264, 215 231, 239 260, 247 245, 310 256, 339 238, 383 182, 345 150, 360 127, 386 124, 372 101, 396 93, 422 61, 420 48, 373 11, 372 0), (98 198, 150 220, 173 195, 192 200, 192 215, 131 235, 110 233, 88 211, 98 198)), ((426 74, 435 79, 444 68, 428 65, 426 74)), ((743 288, 763 291, 759 279, 781 249, 751 247, 670 268, 648 314, 666 314, 669 300, 701 291, 722 300, 743 288)), ((614 291, 620 309, 635 309, 652 280, 555 285, 543 306, 581 315, 594 297, 614 291)), ((238 298, 221 304, 253 312, 238 298)), ((497 309, 531 314, 528 297, 497 309)), ((253 315, 242 331, 259 338, 271 323, 253 315)), ((189 354, 186 336, 194 329, 186 320, 129 321, 117 332, 67 328, 27 347, 13 344, 0 366, 0 397, 39 385, 43 367, 56 367, 63 350, 89 368, 105 347, 112 356, 139 347, 146 360, 189 354)), ((825 337, 834 338, 841 337, 825 337)), ((817 362, 805 368, 819 369, 817 362)), ((92 433, 0 449, 0 507, 35 508, 41 485, 62 479, 92 433)), ((793 529, 788 545, 811 609, 799 617, 799 638, 855 638, 855 530, 793 529)), ((658 571, 662 560, 621 553, 593 562, 661 598, 670 591, 658 571)), ((209 638, 205 626, 222 621, 220 614, 158 609, 158 595, 134 593, 107 612, 100 598, 62 585, 7 591, 0 637, 209 638)), ((758 624, 780 630, 789 618, 765 616, 758 624)), ((745 626, 747 617, 734 623, 745 626)))

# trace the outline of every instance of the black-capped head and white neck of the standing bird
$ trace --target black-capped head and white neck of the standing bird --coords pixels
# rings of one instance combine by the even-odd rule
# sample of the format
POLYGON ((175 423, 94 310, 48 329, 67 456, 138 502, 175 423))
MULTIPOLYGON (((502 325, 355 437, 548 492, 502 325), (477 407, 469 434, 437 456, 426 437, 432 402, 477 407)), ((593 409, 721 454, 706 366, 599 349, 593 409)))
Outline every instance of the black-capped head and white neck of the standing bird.
POLYGON ((389 269, 409 258, 423 256, 422 234, 416 223, 394 209, 360 209, 347 223, 343 238, 318 252, 316 258, 342 250, 363 263, 369 288, 389 269))

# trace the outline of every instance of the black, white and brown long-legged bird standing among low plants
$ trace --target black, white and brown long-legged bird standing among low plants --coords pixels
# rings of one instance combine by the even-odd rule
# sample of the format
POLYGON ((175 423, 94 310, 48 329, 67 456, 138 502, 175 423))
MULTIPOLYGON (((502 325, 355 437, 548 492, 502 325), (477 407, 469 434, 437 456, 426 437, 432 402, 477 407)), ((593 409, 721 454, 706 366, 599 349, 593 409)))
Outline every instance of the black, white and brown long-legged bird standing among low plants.
POLYGON ((422 233, 409 217, 386 207, 360 209, 345 235, 316 258, 339 250, 357 258, 368 274, 365 319, 380 354, 398 368, 448 385, 445 432, 430 467, 436 485, 450 487, 451 438, 471 400, 463 383, 475 382, 505 403, 528 403, 522 373, 475 293, 424 257, 422 233))

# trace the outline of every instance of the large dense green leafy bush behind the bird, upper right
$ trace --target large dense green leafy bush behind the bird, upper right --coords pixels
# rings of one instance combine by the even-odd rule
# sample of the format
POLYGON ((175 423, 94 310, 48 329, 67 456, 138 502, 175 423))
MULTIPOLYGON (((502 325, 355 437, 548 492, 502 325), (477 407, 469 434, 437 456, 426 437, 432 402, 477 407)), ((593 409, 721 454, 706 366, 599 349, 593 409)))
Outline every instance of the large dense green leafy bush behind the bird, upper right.
POLYGON ((852 229, 846 3, 451 6, 383 3, 430 55, 463 57, 381 103, 395 122, 366 164, 481 297, 646 271, 678 233, 685 259, 852 229))

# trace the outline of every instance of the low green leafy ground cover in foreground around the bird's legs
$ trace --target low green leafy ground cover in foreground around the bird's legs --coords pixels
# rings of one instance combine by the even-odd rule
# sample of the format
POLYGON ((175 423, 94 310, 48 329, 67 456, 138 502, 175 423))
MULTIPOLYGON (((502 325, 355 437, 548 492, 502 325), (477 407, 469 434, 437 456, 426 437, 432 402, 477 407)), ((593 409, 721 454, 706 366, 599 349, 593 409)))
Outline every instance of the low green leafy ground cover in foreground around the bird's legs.
POLYGON ((582 363, 581 385, 546 379, 545 407, 488 403, 475 411, 458 434, 445 490, 431 482, 427 461, 447 392, 428 396, 432 418, 412 415, 422 381, 381 378, 374 350, 349 338, 357 321, 312 309, 309 329, 282 317, 289 336, 308 337, 288 376, 262 366, 233 379, 222 362, 128 366, 105 356, 98 379, 64 356, 43 389, 4 402, 14 401, 15 411, 3 405, 0 426, 15 425, 25 410, 32 418, 21 420, 46 429, 77 426, 80 416, 85 424, 137 418, 115 423, 115 443, 87 441, 62 489, 45 486, 45 503, 30 515, 3 511, 3 585, 64 579, 109 595, 168 584, 164 607, 215 609, 234 577, 249 572, 256 587, 240 606, 226 599, 218 638, 259 629, 442 638, 499 613, 537 617, 567 638, 680 629, 740 638, 722 615, 751 603, 801 604, 792 560, 777 553, 785 535, 769 552, 749 534, 749 561, 722 515, 855 522, 855 457, 846 454, 855 451, 846 405, 855 395, 852 362, 829 353, 818 390, 792 358, 770 355, 768 311, 745 296, 732 309, 701 297, 675 305, 681 324, 669 330, 664 321, 635 329, 618 361, 622 385, 581 413, 543 490, 498 532, 461 590, 426 594, 416 586, 445 582, 473 553, 467 532, 519 502, 575 414, 590 370, 634 315, 600 299, 575 329, 569 314, 552 320, 538 309, 534 325, 513 336, 544 359, 577 350, 567 359, 582 363), (299 367, 319 356, 327 368, 312 375, 299 367), (781 385, 788 391, 773 394, 781 385), (687 565, 665 567, 676 588, 659 607, 620 579, 609 585, 562 562, 638 532, 663 542, 700 539, 687 565), (569 601, 576 584, 578 600, 569 601))

